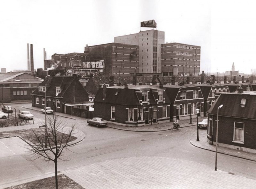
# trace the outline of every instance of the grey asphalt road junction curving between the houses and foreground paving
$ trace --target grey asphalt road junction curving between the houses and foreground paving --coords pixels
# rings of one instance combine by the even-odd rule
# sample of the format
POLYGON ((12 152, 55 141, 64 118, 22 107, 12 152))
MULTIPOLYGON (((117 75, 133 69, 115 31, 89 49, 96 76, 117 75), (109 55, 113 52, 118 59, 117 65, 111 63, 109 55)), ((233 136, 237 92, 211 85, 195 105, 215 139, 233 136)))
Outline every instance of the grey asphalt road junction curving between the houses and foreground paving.
MULTIPOLYGON (((13 107, 24 110, 22 104, 13 104, 13 107)), ((35 122, 44 122, 44 114, 35 110, 30 111, 35 115, 35 122)), ((214 152, 194 147, 189 143, 189 140, 196 138, 196 126, 162 132, 130 132, 108 127, 97 128, 87 125, 83 118, 77 118, 77 120, 59 118, 68 125, 76 124, 76 128, 86 136, 82 142, 69 148, 70 151, 64 152, 62 159, 66 161, 58 162, 59 171, 108 159, 132 156, 172 157, 201 163, 212 168, 215 166, 214 152)), ((206 137, 206 130, 199 130, 199 139, 201 137, 206 137)), ((15 143, 20 142, 7 140, 0 140, 1 172, 2 170, 5 172, 4 177, 0 177, 0 184, 54 172, 52 162, 28 161, 28 152, 22 147, 15 147, 15 143), (9 144, 10 149, 3 144, 9 144)), ((256 179, 256 163, 249 160, 219 154, 218 169, 256 179)))

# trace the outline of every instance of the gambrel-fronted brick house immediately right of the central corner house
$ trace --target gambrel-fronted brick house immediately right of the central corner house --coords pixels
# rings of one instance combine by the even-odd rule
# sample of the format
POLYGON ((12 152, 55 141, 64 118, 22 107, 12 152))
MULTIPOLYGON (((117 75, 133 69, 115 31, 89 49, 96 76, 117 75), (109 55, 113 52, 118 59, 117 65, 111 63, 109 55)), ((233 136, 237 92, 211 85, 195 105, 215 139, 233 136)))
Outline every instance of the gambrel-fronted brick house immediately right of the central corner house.
POLYGON ((204 98, 200 87, 196 86, 164 86, 166 96, 171 102, 171 117, 173 121, 176 117, 180 120, 186 120, 196 117, 196 109, 199 109, 199 115, 204 110, 204 98))

